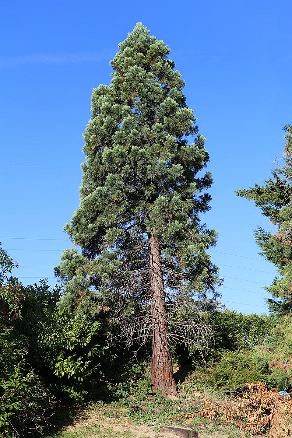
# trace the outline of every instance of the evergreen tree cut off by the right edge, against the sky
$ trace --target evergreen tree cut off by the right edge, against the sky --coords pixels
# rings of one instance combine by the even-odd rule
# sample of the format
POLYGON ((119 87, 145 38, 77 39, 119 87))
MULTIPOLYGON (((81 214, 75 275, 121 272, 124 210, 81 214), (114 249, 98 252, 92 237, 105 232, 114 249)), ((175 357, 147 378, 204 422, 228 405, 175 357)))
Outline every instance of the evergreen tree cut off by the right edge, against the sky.
POLYGON ((284 130, 283 163, 272 171, 273 178, 263 186, 236 191, 237 196, 253 200, 275 226, 274 232, 258 227, 255 237, 260 254, 277 267, 280 275, 266 287, 272 295, 267 300, 269 309, 278 315, 292 311, 292 126, 285 125, 284 130))

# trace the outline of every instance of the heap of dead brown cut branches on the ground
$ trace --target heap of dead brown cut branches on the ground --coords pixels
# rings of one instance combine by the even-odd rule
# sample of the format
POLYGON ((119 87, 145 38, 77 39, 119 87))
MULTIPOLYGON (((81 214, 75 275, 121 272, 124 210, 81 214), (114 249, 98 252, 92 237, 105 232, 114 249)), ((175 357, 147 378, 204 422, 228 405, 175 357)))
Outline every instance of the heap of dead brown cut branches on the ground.
POLYGON ((209 419, 220 417, 244 429, 250 435, 269 431, 269 438, 292 436, 292 398, 268 390, 262 382, 246 383, 248 391, 238 395, 238 401, 227 400, 220 406, 205 399, 198 415, 209 419))

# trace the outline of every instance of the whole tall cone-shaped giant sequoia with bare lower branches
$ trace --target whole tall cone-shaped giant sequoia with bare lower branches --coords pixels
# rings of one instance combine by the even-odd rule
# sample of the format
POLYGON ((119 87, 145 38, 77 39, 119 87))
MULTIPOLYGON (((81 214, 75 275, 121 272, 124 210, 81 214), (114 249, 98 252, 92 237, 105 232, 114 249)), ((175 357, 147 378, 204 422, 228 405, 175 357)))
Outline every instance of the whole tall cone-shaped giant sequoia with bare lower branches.
POLYGON ((80 206, 65 226, 81 251, 66 250, 56 268, 64 303, 90 295, 128 347, 152 337, 151 382, 164 395, 175 393, 171 345, 208 343, 198 309, 219 282, 206 253, 216 232, 200 222, 209 157, 169 53, 138 23, 111 61, 110 85, 93 90, 80 206))

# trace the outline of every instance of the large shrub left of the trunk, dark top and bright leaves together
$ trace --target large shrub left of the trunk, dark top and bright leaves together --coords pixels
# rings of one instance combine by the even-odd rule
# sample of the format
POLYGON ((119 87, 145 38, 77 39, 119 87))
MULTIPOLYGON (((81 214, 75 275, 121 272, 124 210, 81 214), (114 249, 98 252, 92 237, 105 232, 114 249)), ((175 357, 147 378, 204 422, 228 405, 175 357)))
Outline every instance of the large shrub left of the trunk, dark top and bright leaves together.
POLYGON ((52 391, 83 400, 99 375, 100 323, 83 312, 59 308, 60 290, 46 281, 22 289, 25 295, 18 330, 30 339, 28 360, 52 391))

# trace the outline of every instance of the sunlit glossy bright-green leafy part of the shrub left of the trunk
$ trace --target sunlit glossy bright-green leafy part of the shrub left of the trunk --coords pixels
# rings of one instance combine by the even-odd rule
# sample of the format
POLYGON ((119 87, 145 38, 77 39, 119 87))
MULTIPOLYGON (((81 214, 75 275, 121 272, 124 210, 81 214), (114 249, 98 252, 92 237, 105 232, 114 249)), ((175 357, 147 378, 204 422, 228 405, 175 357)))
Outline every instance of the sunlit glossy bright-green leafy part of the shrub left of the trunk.
POLYGON ((99 326, 85 315, 69 316, 61 311, 51 318, 50 324, 41 324, 38 332, 42 366, 53 372, 59 388, 75 399, 83 399, 89 379, 98 372, 98 358, 102 354, 96 343, 99 326))

